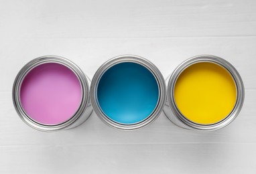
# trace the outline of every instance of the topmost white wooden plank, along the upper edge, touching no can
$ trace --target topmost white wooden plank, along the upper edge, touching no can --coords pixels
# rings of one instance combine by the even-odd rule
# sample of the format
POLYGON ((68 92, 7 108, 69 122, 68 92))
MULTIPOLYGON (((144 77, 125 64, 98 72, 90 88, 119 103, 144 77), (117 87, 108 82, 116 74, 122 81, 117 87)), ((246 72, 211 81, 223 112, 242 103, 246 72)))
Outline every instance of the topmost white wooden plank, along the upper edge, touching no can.
POLYGON ((1 37, 256 35, 256 1, 1 1, 1 37))

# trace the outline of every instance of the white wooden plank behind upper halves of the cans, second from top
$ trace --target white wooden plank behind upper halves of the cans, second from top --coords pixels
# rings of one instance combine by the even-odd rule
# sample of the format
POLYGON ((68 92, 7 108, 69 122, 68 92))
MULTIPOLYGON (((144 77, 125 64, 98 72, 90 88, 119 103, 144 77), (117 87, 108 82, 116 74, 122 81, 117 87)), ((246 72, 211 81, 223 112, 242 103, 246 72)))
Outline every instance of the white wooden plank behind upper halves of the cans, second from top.
POLYGON ((241 74, 245 88, 256 89, 256 37, 192 37, 142 39, 2 39, 0 92, 11 92, 17 72, 39 56, 69 58, 92 78, 104 62, 122 54, 143 56, 167 77, 184 60, 212 54, 225 58, 241 74))

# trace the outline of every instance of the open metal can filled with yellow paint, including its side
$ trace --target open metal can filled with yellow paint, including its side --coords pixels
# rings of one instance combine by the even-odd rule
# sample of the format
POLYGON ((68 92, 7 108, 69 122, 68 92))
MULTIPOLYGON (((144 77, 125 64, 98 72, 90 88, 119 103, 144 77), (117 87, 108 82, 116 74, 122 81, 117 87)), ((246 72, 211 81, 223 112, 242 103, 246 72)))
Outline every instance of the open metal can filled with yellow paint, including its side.
POLYGON ((166 84, 164 114, 182 128, 225 127, 237 117, 245 98, 239 72, 216 56, 194 56, 182 62, 166 84))

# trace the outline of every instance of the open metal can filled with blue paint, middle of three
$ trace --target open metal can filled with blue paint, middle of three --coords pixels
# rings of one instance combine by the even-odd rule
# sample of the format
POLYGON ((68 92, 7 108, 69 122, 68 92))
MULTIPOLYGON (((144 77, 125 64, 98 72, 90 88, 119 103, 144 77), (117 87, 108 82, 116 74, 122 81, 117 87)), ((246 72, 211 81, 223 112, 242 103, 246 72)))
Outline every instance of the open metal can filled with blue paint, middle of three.
POLYGON ((117 56, 94 74, 92 107, 107 125, 135 130, 153 122, 166 101, 166 84, 157 67, 139 56, 117 56))

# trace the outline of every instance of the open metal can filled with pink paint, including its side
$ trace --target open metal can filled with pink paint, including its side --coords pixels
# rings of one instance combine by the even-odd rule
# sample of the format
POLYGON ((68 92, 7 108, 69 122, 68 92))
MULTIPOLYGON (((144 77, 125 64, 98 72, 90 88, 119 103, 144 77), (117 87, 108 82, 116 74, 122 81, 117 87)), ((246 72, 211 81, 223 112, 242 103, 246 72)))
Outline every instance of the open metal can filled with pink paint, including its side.
POLYGON ((74 128, 92 113, 90 80, 70 60, 42 56, 31 60, 13 83, 13 104, 23 122, 53 132, 74 128))

